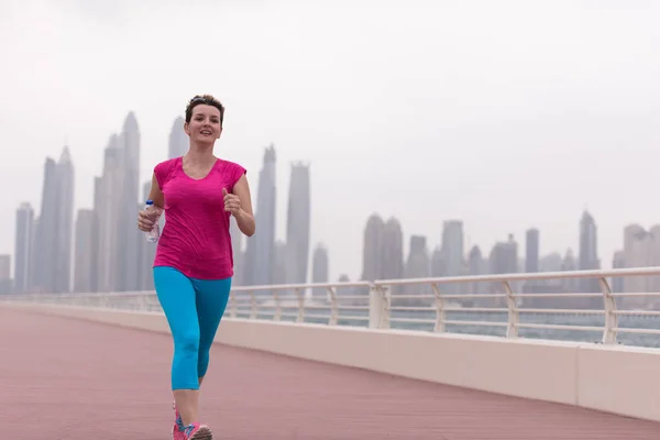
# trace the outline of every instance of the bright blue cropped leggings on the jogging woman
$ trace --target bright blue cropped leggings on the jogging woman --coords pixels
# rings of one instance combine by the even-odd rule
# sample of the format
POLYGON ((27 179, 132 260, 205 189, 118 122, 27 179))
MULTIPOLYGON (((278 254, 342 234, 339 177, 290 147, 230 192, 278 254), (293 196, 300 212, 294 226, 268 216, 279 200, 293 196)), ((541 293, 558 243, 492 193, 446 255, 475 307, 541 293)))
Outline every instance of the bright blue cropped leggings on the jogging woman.
POLYGON ((153 271, 156 295, 174 339, 172 389, 199 389, 229 300, 231 277, 195 279, 165 266, 153 271))

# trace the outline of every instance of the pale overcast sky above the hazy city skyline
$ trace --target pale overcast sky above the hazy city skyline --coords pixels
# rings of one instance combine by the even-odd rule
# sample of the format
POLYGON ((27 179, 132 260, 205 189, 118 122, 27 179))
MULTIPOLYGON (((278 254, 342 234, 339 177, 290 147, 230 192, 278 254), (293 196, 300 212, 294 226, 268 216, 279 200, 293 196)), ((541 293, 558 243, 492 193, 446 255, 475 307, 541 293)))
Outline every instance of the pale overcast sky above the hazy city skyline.
MULTIPOLYGON (((466 248, 541 231, 576 250, 587 207, 602 264, 629 222, 660 222, 660 3, 649 1, 0 1, 0 253, 15 208, 38 209, 45 156, 68 141, 76 207, 92 204, 108 138, 135 111, 141 180, 196 94, 227 106, 216 153, 256 198, 277 150, 311 164, 312 243, 330 275, 361 272, 369 215, 466 248), (55 6, 56 4, 56 6, 55 6)), ((258 233, 258 231, 257 231, 258 233)))

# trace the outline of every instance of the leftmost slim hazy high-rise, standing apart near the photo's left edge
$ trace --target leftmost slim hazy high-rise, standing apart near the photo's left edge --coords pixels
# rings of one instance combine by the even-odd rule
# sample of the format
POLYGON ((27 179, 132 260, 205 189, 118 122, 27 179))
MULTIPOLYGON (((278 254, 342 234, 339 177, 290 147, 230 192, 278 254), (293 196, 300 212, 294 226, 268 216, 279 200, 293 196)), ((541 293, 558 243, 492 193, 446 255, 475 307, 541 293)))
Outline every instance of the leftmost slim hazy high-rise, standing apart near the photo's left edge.
POLYGON ((28 292, 31 287, 32 241, 34 235, 34 210, 23 202, 16 210, 14 246, 14 292, 28 292))

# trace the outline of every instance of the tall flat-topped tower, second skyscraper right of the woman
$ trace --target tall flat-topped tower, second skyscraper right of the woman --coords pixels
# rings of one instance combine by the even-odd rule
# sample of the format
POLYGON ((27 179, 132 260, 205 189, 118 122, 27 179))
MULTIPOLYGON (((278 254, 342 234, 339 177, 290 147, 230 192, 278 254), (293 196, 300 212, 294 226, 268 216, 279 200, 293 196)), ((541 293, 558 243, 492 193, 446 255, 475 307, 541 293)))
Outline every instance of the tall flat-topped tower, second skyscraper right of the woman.
POLYGON ((309 165, 292 164, 286 221, 286 282, 306 284, 311 219, 309 165))

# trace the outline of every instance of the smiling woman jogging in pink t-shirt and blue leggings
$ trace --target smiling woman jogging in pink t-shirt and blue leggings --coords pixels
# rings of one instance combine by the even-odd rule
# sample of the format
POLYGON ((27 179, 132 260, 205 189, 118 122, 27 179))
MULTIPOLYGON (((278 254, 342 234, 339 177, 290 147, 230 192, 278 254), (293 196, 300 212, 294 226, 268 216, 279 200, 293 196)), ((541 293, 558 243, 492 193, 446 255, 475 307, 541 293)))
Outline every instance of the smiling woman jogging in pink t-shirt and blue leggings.
MULTIPOLYGON (((212 438, 209 427, 198 421, 199 386, 233 276, 230 216, 245 235, 255 229, 245 168, 213 155, 223 116, 224 108, 212 96, 190 100, 184 124, 189 150, 155 166, 150 193, 166 219, 153 274, 174 339, 174 440, 212 438)), ((156 221, 157 216, 140 211, 138 227, 151 231, 156 221)))

